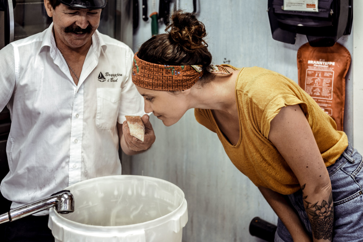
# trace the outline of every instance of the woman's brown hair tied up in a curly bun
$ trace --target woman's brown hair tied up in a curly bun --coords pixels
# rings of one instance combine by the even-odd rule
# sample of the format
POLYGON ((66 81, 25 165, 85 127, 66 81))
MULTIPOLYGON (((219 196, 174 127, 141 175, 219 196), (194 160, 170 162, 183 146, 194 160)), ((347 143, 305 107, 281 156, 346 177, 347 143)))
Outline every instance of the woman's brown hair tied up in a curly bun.
MULTIPOLYGON (((160 65, 202 65, 207 67, 212 62, 212 54, 204 38, 205 26, 193 13, 174 11, 167 33, 158 34, 144 42, 137 56, 144 61, 160 65)), ((214 74, 207 71, 203 81, 210 81, 214 74)))

